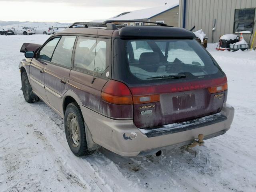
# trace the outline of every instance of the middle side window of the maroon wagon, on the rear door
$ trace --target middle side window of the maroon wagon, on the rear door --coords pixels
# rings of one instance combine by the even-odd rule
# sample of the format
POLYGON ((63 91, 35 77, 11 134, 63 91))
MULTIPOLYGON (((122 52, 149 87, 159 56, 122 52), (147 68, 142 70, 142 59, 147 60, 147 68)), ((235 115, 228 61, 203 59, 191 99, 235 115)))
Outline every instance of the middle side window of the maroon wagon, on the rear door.
POLYGON ((52 62, 71 67, 71 58, 75 40, 76 36, 62 36, 52 56, 52 62))

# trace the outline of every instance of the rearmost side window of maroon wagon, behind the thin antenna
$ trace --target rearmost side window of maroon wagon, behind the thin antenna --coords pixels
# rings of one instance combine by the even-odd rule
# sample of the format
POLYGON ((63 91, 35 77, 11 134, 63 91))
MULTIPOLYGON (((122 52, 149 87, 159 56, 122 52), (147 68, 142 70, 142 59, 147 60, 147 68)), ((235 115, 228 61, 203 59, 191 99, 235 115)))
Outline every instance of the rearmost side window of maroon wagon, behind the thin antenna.
POLYGON ((96 44, 96 38, 80 36, 76 44, 74 67, 90 72, 94 70, 102 74, 107 65, 107 42, 107 40, 98 38, 96 44))

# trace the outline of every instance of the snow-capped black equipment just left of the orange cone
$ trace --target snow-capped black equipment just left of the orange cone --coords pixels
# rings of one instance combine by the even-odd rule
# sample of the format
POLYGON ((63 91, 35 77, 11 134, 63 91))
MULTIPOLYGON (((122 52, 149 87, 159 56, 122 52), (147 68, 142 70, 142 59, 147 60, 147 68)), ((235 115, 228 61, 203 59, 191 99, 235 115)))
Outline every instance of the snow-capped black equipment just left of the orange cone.
POLYGON ((219 44, 216 47, 216 50, 229 50, 229 45, 236 43, 240 40, 239 36, 234 34, 226 34, 220 37, 219 44))

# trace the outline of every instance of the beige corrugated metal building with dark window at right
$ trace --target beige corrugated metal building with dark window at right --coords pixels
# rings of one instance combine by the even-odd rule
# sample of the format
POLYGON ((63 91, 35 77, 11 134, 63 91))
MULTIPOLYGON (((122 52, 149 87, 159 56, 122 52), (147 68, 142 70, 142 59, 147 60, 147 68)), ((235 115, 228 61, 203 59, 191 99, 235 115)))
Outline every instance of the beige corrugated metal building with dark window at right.
POLYGON ((255 8, 256 0, 180 0, 179 26, 186 29, 196 26, 195 30, 202 29, 210 43, 218 42, 224 34, 250 31, 253 32, 251 40, 251 34, 243 36, 251 44, 256 31, 256 24, 253 28, 256 20, 255 8))

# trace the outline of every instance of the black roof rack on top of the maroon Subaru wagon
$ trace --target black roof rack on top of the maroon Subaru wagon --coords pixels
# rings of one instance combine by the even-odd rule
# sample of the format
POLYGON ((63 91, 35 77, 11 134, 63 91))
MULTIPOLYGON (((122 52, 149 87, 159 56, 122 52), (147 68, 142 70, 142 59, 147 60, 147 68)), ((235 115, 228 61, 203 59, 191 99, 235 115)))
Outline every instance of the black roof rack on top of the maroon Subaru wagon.
POLYGON ((118 28, 122 28, 126 26, 123 24, 115 24, 114 22, 140 22, 140 23, 157 24, 158 26, 173 27, 173 26, 168 26, 165 23, 142 21, 142 20, 106 20, 103 22, 75 22, 75 23, 72 23, 68 28, 73 28, 74 26, 82 25, 84 26, 84 28, 88 28, 88 26, 90 26, 90 27, 106 27, 106 29, 116 30, 118 28))

